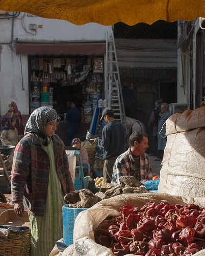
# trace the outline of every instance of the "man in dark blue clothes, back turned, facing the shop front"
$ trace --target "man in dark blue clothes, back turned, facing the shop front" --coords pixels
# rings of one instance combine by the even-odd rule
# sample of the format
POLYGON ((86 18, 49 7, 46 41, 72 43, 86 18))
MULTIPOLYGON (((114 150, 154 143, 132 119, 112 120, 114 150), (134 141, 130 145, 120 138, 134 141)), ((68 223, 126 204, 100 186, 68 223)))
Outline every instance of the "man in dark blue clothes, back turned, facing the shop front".
POLYGON ((72 139, 78 137, 79 124, 82 120, 81 111, 76 108, 75 104, 76 102, 71 102, 71 109, 68 110, 66 115, 66 121, 68 122, 66 133, 67 146, 71 146, 72 139))

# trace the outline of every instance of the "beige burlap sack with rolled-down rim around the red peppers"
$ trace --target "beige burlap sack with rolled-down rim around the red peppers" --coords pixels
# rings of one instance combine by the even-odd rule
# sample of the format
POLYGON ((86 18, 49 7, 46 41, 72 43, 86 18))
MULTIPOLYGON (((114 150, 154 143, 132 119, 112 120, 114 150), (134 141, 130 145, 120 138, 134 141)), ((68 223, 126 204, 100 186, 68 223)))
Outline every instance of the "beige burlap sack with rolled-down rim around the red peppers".
MULTIPOLYGON (((169 204, 185 205, 195 203, 200 205, 200 207, 205 206, 205 198, 177 197, 159 193, 124 194, 102 200, 90 209, 80 212, 74 224, 74 243, 66 248, 63 253, 58 254, 58 256, 114 256, 109 248, 95 243, 93 229, 106 217, 119 216, 119 208, 121 206, 133 205, 142 207, 149 201, 155 201, 156 204, 166 201, 169 204)), ((200 251, 198 255, 205 255, 205 250, 200 251)))

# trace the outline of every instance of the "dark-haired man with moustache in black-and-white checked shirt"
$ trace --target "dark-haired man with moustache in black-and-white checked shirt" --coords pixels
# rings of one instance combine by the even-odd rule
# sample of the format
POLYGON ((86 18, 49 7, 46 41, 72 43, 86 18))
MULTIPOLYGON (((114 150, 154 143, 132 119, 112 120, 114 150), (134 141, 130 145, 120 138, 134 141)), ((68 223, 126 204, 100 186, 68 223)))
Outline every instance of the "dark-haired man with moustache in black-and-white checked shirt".
POLYGON ((112 181, 114 185, 119 184, 121 176, 133 176, 137 180, 151 180, 151 161, 145 153, 148 148, 147 135, 141 132, 131 134, 130 147, 122 153, 115 161, 112 181))

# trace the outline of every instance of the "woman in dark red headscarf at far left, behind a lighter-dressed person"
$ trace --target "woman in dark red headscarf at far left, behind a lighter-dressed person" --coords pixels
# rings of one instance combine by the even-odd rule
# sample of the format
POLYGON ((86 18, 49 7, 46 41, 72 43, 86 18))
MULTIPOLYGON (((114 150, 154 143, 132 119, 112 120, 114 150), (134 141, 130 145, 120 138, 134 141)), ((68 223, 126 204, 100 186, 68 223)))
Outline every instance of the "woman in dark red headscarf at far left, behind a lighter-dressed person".
POLYGON ((19 136, 23 136, 24 127, 23 127, 23 119, 20 111, 18 111, 17 105, 14 101, 9 102, 9 111, 5 114, 2 119, 2 126, 4 127, 9 119, 9 117, 15 116, 16 120, 16 129, 18 131, 19 136))

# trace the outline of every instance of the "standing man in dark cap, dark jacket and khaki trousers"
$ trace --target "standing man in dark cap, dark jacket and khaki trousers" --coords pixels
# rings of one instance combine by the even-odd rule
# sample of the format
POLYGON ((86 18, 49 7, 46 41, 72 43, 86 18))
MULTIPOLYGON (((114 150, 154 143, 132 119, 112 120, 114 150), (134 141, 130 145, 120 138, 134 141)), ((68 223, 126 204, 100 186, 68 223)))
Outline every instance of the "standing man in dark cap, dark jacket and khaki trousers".
POLYGON ((115 120, 114 111, 110 108, 102 111, 100 120, 102 119, 106 122, 106 126, 102 130, 102 137, 92 140, 103 148, 104 182, 111 182, 115 160, 125 151, 125 127, 121 122, 115 120))

